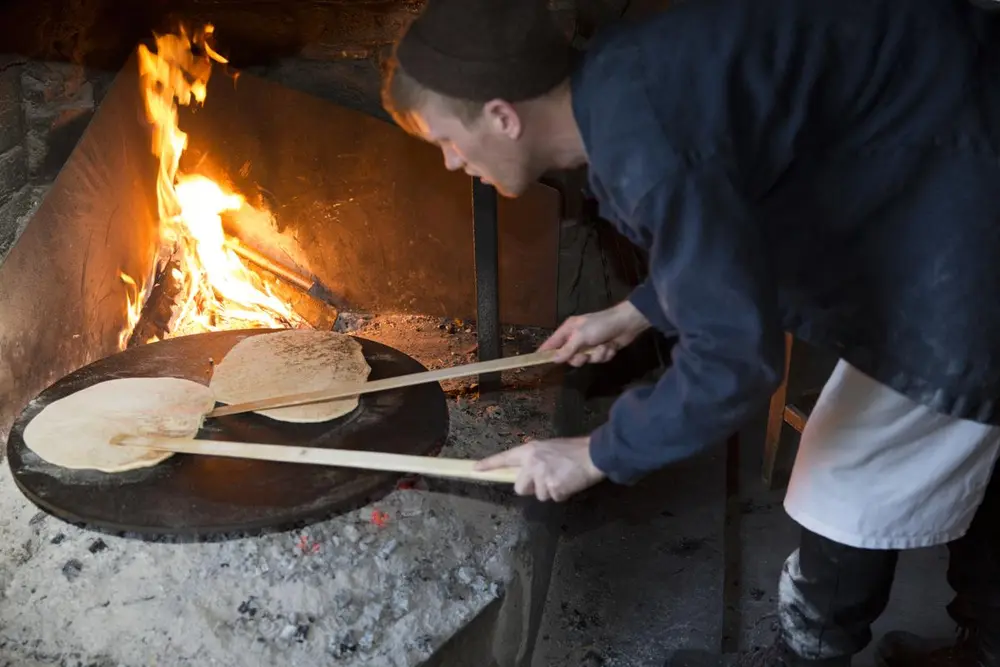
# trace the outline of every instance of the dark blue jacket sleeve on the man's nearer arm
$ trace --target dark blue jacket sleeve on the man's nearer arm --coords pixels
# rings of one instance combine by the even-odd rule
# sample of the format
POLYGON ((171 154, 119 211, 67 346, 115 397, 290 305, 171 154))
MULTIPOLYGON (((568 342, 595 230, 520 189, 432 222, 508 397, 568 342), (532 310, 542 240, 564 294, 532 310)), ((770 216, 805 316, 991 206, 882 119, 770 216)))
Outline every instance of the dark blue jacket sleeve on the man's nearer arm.
POLYGON ((640 300, 655 295, 679 339, 659 381, 624 393, 591 434, 594 464, 623 484, 738 430, 768 402, 784 365, 761 231, 724 162, 665 179, 634 223, 652 237, 640 300))

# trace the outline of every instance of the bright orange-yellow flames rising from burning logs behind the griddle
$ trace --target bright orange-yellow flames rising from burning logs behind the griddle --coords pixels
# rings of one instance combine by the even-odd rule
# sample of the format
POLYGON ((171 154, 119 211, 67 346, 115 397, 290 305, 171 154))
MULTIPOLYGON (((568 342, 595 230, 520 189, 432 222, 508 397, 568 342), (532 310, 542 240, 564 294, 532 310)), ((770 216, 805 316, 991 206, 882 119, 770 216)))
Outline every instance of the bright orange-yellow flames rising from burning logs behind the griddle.
MULTIPOLYGON (((178 126, 178 105, 203 104, 212 61, 227 62, 208 44, 213 30, 206 25, 189 34, 182 27, 178 34, 156 35, 155 53, 145 45, 138 50, 146 118, 153 128, 152 151, 160 161, 156 195, 161 255, 173 257, 179 266, 172 277, 180 293, 166 337, 302 323, 225 245, 222 214, 249 204, 205 176, 178 173, 187 148, 187 134, 178 126)), ((135 280, 124 273, 121 279, 129 287, 127 330, 120 338, 124 349, 139 320, 143 298, 135 280)))

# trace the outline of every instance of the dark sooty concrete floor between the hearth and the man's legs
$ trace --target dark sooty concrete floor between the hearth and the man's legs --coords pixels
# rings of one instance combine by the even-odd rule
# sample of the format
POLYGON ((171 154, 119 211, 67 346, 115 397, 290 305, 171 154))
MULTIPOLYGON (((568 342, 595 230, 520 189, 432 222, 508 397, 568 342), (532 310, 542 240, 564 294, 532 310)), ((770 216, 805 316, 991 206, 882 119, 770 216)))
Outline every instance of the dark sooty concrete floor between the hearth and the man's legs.
MULTIPOLYGON (((595 404, 594 423, 608 403, 595 404)), ((798 529, 782 508, 784 490, 761 481, 764 417, 742 434, 739 489, 730 483, 728 499, 727 452, 718 447, 636 487, 605 485, 572 503, 534 665, 660 667, 678 649, 726 664, 737 650, 770 643, 778 575, 798 529)), ((876 641, 900 628, 950 636, 946 565, 945 549, 903 554, 876 641)), ((871 665, 872 648, 855 664, 871 665)))

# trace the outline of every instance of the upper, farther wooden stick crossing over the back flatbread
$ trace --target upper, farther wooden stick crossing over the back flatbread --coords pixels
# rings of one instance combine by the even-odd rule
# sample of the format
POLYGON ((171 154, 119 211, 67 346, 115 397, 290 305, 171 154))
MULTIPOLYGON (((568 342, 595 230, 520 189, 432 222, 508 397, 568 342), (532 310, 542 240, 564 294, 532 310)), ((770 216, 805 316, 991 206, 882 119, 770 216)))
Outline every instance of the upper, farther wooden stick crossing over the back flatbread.
POLYGON ((235 415, 241 412, 252 412, 254 410, 264 410, 269 408, 285 408, 292 405, 304 405, 306 403, 322 403, 338 398, 348 398, 350 396, 360 396, 386 389, 399 389, 425 382, 439 382, 441 380, 451 380, 469 375, 479 375, 480 373, 492 373, 496 371, 506 371, 513 368, 527 368, 528 366, 540 366, 552 363, 555 356, 554 350, 544 352, 532 352, 531 354, 520 354, 513 357, 503 357, 492 361, 478 361, 474 364, 463 364, 450 368, 441 368, 436 371, 423 371, 421 373, 410 373, 408 375, 397 375, 396 377, 384 380, 372 380, 371 382, 361 382, 358 384, 342 384, 329 389, 318 391, 307 391, 300 394, 287 394, 285 396, 275 396, 273 398, 262 398, 246 403, 234 403, 212 410, 208 417, 222 417, 224 415, 235 415))

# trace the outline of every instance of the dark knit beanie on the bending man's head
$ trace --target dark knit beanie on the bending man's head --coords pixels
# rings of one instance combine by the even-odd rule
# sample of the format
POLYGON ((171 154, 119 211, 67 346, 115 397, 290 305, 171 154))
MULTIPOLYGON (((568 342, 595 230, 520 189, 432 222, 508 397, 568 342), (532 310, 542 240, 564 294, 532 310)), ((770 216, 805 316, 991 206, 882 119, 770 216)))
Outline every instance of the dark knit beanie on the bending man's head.
POLYGON ((572 53, 544 0, 428 0, 396 46, 419 83, 476 102, 547 93, 569 76, 572 53))

